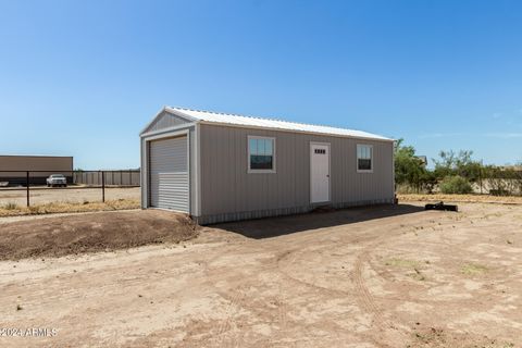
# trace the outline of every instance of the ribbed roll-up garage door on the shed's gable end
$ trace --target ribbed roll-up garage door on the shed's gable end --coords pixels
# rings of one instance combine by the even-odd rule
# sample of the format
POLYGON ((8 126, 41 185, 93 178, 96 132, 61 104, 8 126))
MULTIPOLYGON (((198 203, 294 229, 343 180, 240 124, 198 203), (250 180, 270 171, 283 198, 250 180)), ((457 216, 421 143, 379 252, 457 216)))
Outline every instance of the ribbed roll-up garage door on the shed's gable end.
POLYGON ((151 207, 188 213, 187 136, 150 142, 149 175, 151 207))

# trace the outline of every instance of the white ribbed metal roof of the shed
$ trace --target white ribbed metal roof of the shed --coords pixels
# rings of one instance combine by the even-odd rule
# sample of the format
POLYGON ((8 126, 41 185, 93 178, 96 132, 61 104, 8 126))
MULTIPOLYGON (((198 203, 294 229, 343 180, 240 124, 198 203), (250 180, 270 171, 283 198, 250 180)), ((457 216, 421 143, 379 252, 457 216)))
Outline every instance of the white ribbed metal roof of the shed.
POLYGON ((318 134, 327 134, 335 136, 346 136, 346 137, 358 137, 358 138, 369 138, 369 139, 378 139, 378 140, 390 140, 376 134, 371 134, 362 130, 353 130, 346 128, 337 128, 331 126, 287 122, 273 119, 262 119, 245 115, 236 115, 228 113, 219 113, 211 111, 200 111, 191 110, 185 108, 165 108, 167 111, 174 111, 175 113, 181 113, 189 119, 194 119, 195 122, 210 122, 210 123, 220 123, 220 124, 233 124, 246 127, 259 127, 268 129, 284 129, 284 130, 294 130, 294 132, 304 132, 304 133, 318 133, 318 134))

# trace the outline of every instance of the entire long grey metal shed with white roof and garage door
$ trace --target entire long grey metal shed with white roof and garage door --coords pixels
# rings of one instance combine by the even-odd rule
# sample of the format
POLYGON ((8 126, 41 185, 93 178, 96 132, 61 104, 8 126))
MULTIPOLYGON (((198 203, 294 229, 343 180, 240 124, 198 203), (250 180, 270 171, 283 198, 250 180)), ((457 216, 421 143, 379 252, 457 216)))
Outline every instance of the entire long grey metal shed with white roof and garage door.
POLYGON ((140 134, 141 206, 200 224, 394 202, 394 140, 163 108, 140 134))

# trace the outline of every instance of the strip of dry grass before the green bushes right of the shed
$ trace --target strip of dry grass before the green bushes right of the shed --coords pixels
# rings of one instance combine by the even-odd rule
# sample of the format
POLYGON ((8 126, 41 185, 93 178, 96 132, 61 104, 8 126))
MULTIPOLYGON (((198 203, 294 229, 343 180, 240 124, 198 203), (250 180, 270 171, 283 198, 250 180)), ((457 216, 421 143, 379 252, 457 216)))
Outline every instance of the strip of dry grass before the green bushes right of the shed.
POLYGON ((445 202, 467 202, 467 203, 506 203, 522 204, 522 197, 509 196, 489 196, 489 195, 397 195, 399 201, 445 201, 445 202))

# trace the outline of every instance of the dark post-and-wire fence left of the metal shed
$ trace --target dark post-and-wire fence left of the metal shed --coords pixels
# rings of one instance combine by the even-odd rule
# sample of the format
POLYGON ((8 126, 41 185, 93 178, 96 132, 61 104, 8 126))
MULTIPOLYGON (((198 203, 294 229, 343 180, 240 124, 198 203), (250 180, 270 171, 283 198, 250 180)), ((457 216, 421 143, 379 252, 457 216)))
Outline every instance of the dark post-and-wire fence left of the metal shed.
POLYGON ((139 199, 140 171, 0 171, 0 206, 139 199))

